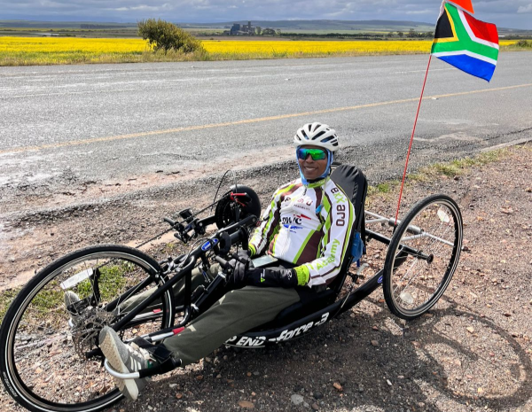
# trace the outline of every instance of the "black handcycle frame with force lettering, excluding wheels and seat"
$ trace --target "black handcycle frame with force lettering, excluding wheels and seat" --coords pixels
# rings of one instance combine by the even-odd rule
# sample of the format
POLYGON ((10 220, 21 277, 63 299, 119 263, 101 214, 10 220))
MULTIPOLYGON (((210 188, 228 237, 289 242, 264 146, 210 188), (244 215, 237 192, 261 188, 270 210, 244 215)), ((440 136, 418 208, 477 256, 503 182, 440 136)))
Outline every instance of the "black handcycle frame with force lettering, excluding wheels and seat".
MULTIPOLYGON (((388 225, 394 228, 396 227, 395 219, 393 218, 387 218, 385 216, 368 211, 365 211, 364 213, 366 216, 369 217, 369 219, 365 222, 366 226, 376 223, 387 223, 388 225)), ((213 216, 206 218, 204 222, 213 222, 213 216)), ((164 292, 168 291, 168 289, 171 288, 174 284, 184 279, 184 305, 182 307, 176 307, 176 309, 178 309, 179 311, 184 312, 183 320, 180 323, 177 323, 176 325, 172 326, 171 328, 154 331, 145 335, 143 338, 145 338, 151 343, 157 343, 165 338, 169 338, 173 335, 176 335, 181 330, 183 330, 186 324, 190 323, 196 315, 199 315, 203 311, 203 305, 209 299, 209 297, 211 297, 211 295, 215 293, 218 288, 225 283, 227 273, 224 272, 226 272, 228 269, 228 263, 227 260, 223 259, 223 257, 221 257, 220 255, 227 255, 227 253, 229 252, 228 249, 231 247, 231 245, 241 242, 243 240, 242 237, 246 236, 246 234, 243 233, 242 229, 246 228, 247 226, 254 226, 255 222, 257 222, 256 216, 249 215, 240 222, 234 223, 229 227, 219 229, 212 237, 208 238, 207 241, 203 242, 191 253, 187 253, 185 255, 179 256, 176 259, 170 260, 170 265, 181 264, 183 268, 179 271, 178 274, 176 274, 176 276, 171 277, 167 282, 160 285, 157 288, 156 292, 146 298, 137 307, 132 309, 128 315, 125 315, 123 318, 121 318, 120 321, 114 323, 113 329, 121 330, 124 327, 131 326, 130 323, 135 323, 135 319, 137 318, 137 316, 145 316, 141 313, 143 310, 145 310, 146 307, 150 305, 150 303, 152 303, 156 299, 159 299, 164 292), (229 233, 231 233, 231 235, 229 233), (220 245, 223 245, 226 250, 221 251, 220 245), (212 282, 207 285, 205 291, 202 292, 197 299, 192 301, 192 269, 195 267, 197 260, 204 259, 206 253, 211 250, 214 250, 215 253, 217 253, 215 254, 215 260, 220 263, 221 267, 225 270, 221 270, 218 275, 215 276, 212 282)), ((401 221, 398 221, 397 224, 399 224, 400 222, 401 221)), ((449 242, 445 239, 434 237, 434 235, 423 232, 422 229, 419 229, 415 226, 409 226, 408 231, 411 233, 412 237, 433 237, 438 241, 442 241, 443 243, 449 244, 449 242)), ((365 229, 365 233, 368 241, 374 239, 382 244, 390 245, 390 237, 386 237, 376 231, 367 228, 365 229)), ((430 256, 406 245, 403 245, 402 251, 400 253, 410 253, 412 255, 420 257, 423 260, 431 259, 430 256)), ((345 297, 338 299, 332 304, 328 304, 317 311, 313 311, 309 315, 304 315, 291 323, 278 325, 277 327, 273 327, 268 330, 248 331, 241 335, 230 338, 225 342, 225 344, 229 346, 239 346, 244 348, 259 348, 264 346, 276 345, 279 342, 300 337, 301 335, 306 334, 311 330, 314 330, 315 328, 317 328, 317 326, 320 326, 321 324, 332 320, 334 317, 337 317, 338 315, 348 311, 351 307, 354 307, 361 300, 372 294, 372 292, 374 292, 376 289, 379 288, 379 286, 381 286, 383 281, 383 272, 384 268, 379 269, 379 271, 366 282, 364 282, 364 284, 361 284, 360 286, 356 287, 356 289, 353 289, 353 287, 351 287, 345 297)), ((153 276, 157 277, 160 276, 160 274, 153 274, 153 276)), ((356 276, 357 275, 355 275, 355 278, 356 276)), ((343 282, 345 283, 345 279, 343 282)), ((149 283, 149 280, 146 280, 146 283, 149 283)), ((139 284, 137 285, 137 287, 140 289, 143 287, 143 284, 139 284)), ((126 295, 126 299, 129 295, 132 295, 136 292, 135 289, 137 288, 132 288, 128 292, 124 293, 124 295, 126 295)), ((117 306, 118 301, 121 298, 115 299, 113 300, 113 302, 110 302, 108 304, 107 310, 113 310, 114 307, 117 306)), ((144 320, 145 317, 142 318, 142 321, 144 320)), ((93 355, 99 354, 99 350, 97 349, 92 351, 91 353, 88 353, 87 356, 91 357, 93 355)), ((141 369, 133 373, 120 373, 112 369, 107 363, 107 361, 105 361, 106 370, 114 377, 120 378, 151 377, 153 375, 166 373, 172 369, 175 369, 179 365, 180 361, 174 360, 173 358, 169 358, 167 361, 161 363, 159 366, 152 369, 141 369)))

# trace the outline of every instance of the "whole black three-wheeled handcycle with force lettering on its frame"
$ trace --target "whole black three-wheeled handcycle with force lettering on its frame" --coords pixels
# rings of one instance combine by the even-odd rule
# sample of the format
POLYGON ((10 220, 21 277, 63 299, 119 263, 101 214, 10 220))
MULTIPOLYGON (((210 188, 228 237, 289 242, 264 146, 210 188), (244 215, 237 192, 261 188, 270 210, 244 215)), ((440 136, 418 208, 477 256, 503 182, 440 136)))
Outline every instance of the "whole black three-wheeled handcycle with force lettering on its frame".
MULTIPOLYGON (((395 222, 364 210, 367 182, 359 169, 337 166, 332 179, 356 210, 353 250, 346 253, 340 275, 313 299, 287 307, 273 322, 232 337, 226 345, 256 348, 299 338, 380 286, 390 311, 406 320, 426 313, 445 292, 462 249, 457 203, 446 195, 432 195, 395 222), (375 225, 393 227, 393 235, 370 229, 375 225), (387 245, 384 267, 357 285, 358 270, 352 267, 372 240, 387 245)), ((214 206, 215 213, 204 218, 191 209, 179 212, 177 222, 165 218, 178 239, 192 243, 189 253, 157 261, 135 248, 95 245, 69 253, 35 275, 13 300, 0 330, 0 371, 8 393, 32 411, 98 411, 121 400, 112 375, 151 377, 175 369, 178 361, 170 358, 153 369, 120 374, 106 364, 98 334, 109 325, 125 342, 142 337, 158 343, 179 333, 221 296, 231 276, 231 250, 246 249, 261 206, 254 190, 243 185, 231 187, 214 206), (211 225, 215 233, 207 235, 211 225), (192 269, 201 268, 205 274, 213 261, 223 268, 218 275, 205 275, 204 282, 192 284, 192 269), (176 302, 176 288, 183 292, 183 301, 176 302), (68 292, 79 300, 68 301, 68 292), (138 296, 142 299, 130 306, 138 296)))

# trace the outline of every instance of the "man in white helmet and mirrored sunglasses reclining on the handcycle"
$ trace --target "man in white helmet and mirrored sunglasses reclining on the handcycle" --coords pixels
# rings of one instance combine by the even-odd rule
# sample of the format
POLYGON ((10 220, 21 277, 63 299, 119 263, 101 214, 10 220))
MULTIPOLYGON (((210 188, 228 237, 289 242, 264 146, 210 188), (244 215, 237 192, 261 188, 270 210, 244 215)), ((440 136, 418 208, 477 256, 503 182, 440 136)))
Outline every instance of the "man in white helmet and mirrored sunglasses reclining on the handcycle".
MULTIPOLYGON (((330 177, 338 137, 332 128, 314 122, 300 128, 293 142, 301 177, 275 192, 249 241, 248 256, 231 260, 229 292, 160 345, 126 345, 105 327, 99 345, 113 369, 129 373, 152 368, 169 356, 181 366, 198 361, 227 339, 269 323, 284 308, 309 299, 339 274, 350 249, 355 210, 330 177), (262 261, 250 260, 259 256, 262 261)), ((218 270, 213 265, 210 272, 218 270)), ((192 276, 193 283, 203 277, 199 270, 192 276)), ((114 379, 131 400, 145 386, 145 379, 114 379)))

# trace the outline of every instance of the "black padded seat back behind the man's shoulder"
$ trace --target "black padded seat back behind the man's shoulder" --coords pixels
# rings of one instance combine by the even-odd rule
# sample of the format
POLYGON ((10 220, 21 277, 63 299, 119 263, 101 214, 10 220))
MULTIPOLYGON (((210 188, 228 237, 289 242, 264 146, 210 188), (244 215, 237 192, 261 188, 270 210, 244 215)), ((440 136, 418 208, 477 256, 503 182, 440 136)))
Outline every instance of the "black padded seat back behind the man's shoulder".
MULTIPOLYGON (((355 206, 355 222, 353 224, 353 230, 350 234, 349 245, 353 244, 355 233, 360 233, 360 237, 365 245, 365 217, 364 217, 364 203, 366 194, 368 192, 368 182, 362 170, 358 167, 350 165, 340 165, 334 169, 331 175, 332 182, 338 184, 342 190, 346 192, 348 198, 351 200, 353 206, 355 206)), ((353 261, 351 255, 351 249, 349 248, 344 258, 340 273, 329 284, 329 288, 332 289, 335 294, 340 293, 341 287, 348 275, 349 266, 353 261)))

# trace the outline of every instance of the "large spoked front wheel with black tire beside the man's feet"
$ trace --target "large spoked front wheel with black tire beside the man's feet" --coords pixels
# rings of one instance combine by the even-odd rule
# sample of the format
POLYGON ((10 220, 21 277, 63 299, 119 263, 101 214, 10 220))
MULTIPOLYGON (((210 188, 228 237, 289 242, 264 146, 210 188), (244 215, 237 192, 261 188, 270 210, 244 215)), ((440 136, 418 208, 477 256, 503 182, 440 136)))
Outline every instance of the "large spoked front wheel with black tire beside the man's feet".
MULTIPOLYGON (((0 329, 0 371, 7 392, 35 412, 96 412, 121 400, 101 358, 87 359, 81 354, 96 348, 99 329, 106 322, 113 324, 130 307, 122 302, 123 308, 106 311, 106 303, 139 280, 146 279, 152 287, 164 283, 165 278, 155 274, 160 274, 157 261, 121 245, 90 246, 43 268, 13 300, 0 329), (96 296, 96 290, 100 292, 94 307, 89 305, 85 312, 73 315, 72 305, 69 312, 64 303, 66 286, 81 275, 97 272, 98 282, 93 282, 97 278, 93 276, 67 288, 80 293, 80 299, 86 295, 87 301, 96 296)), ((153 307, 157 307, 153 315, 148 312, 147 318, 136 318, 134 325, 121 330, 122 337, 133 338, 152 327, 171 327, 171 289, 153 307)))

